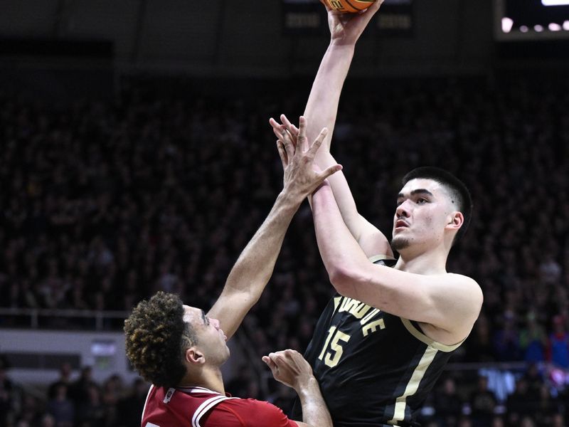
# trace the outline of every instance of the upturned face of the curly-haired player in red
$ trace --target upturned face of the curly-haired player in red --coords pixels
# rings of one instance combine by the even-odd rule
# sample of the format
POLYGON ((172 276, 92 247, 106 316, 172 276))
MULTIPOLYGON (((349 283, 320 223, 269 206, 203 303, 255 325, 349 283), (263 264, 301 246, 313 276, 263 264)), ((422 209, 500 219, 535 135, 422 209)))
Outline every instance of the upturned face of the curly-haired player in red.
POLYGON ((219 320, 208 317, 203 310, 184 305, 184 322, 189 322, 196 331, 196 347, 203 352, 208 363, 223 364, 228 359, 227 337, 220 328, 219 320))

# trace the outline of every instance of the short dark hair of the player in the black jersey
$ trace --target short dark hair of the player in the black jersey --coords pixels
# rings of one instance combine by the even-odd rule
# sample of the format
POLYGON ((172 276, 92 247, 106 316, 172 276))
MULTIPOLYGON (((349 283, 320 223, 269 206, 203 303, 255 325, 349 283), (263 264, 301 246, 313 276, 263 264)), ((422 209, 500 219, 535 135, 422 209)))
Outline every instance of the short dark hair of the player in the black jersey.
POLYGON ((403 186, 411 179, 432 179, 432 181, 438 182, 449 191, 452 203, 457 204, 457 211, 460 211, 462 216, 464 216, 464 223, 457 231, 457 235, 454 236, 453 244, 459 241, 464 236, 464 233, 467 232, 472 218, 472 196, 467 186, 456 176, 445 171, 445 169, 432 166, 422 166, 408 172, 408 174, 403 176, 403 186))

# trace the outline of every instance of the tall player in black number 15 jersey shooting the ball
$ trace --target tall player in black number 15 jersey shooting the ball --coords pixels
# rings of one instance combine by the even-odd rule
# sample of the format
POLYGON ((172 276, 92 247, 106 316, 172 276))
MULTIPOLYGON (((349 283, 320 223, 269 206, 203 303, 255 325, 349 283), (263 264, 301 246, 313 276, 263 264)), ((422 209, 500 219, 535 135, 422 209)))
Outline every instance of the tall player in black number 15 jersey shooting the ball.
MULTIPOLYGON (((377 0, 362 14, 328 10, 331 43, 304 112, 308 122, 301 122, 306 137, 297 146, 322 127, 332 135, 356 41, 380 6, 377 0)), ((281 121, 271 120, 275 133, 294 142, 297 128, 285 116, 281 121)), ((336 163, 329 148, 328 138, 317 154, 321 168, 336 163)), ((313 194, 312 209, 321 257, 338 293, 305 357, 334 426, 418 426, 418 409, 482 307, 479 285, 445 266, 469 223, 469 191, 440 169, 413 170, 398 194, 391 243, 358 214, 341 172, 313 194), (390 268, 392 247, 400 258, 390 268)))

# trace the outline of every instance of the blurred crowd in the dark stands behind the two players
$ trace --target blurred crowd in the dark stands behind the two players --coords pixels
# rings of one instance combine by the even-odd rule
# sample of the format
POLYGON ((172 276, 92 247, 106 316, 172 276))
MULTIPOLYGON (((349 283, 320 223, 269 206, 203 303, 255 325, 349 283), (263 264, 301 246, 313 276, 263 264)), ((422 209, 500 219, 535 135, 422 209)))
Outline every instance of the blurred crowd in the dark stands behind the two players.
MULTIPOLYGON (((472 191, 472 225, 448 270, 477 280, 484 306, 452 362, 527 364, 507 396, 488 376, 465 383, 450 373, 424 426, 569 419, 567 86, 395 80, 342 98, 332 152, 361 213, 386 235, 413 167, 448 169, 472 191)), ((166 96, 140 83, 113 101, 72 105, 0 95, 0 306, 127 311, 165 290, 211 307, 282 187, 268 118, 299 115, 307 90, 269 95, 166 96)), ((302 352, 332 292, 304 204, 243 326, 255 355, 302 352)), ((0 327, 21 326, 0 318, 0 327)), ((41 327, 88 325, 54 318, 41 327)), ((4 361, 0 427, 137 426, 147 385, 117 376, 97 384, 89 370, 38 399, 18 391, 4 361)), ((228 391, 287 411, 289 391, 270 384, 267 394, 260 381, 243 367, 228 391)))

